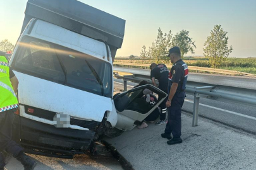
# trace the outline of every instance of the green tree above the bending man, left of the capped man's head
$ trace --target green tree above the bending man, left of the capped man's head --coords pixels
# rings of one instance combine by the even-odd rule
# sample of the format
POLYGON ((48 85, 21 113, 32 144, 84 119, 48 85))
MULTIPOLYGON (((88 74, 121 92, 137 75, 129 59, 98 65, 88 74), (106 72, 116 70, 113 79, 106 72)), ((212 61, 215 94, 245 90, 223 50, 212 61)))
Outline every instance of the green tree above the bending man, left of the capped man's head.
MULTIPOLYGON (((161 28, 159 28, 157 33, 156 40, 152 43, 152 46, 149 47, 149 51, 146 52, 145 45, 142 47, 143 54, 150 57, 150 59, 154 59, 155 62, 159 62, 159 60, 166 60, 168 57, 168 50, 171 47, 171 30, 169 33, 163 33, 161 28)), ((141 53, 142 55, 142 53, 141 53)))

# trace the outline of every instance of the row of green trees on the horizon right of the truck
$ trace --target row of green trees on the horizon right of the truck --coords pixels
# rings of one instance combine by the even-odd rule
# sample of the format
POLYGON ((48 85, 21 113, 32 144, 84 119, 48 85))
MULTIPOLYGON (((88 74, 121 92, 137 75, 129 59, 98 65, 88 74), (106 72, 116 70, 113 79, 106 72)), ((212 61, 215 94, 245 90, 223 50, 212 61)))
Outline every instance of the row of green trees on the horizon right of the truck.
MULTIPOLYGON (((140 52, 141 59, 154 60, 156 63, 160 60, 169 60, 167 57, 168 50, 174 46, 180 47, 182 58, 188 52, 194 54, 195 48, 197 47, 195 41, 189 36, 189 31, 181 30, 174 36, 171 30, 168 33, 163 33, 161 28, 159 28, 157 31, 157 38, 152 42, 149 50, 143 45, 142 51, 140 52)), ((204 43, 204 56, 213 68, 219 67, 233 50, 232 46, 228 47, 227 33, 221 28, 221 25, 215 25, 214 29, 210 31, 210 36, 207 37, 204 43)))

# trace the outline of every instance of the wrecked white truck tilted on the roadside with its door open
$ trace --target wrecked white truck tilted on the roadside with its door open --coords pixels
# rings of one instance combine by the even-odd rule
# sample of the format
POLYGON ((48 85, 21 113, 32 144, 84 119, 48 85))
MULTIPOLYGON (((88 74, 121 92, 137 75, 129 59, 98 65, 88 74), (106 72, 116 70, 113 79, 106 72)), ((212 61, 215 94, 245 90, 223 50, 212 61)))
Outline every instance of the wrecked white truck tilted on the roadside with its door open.
POLYGON ((100 135, 131 130, 159 105, 166 93, 151 85, 113 96, 124 33, 125 20, 79 1, 28 0, 9 60, 20 82, 13 137, 27 152, 72 157, 93 150, 100 135), (154 107, 140 99, 145 88, 159 96, 154 107))

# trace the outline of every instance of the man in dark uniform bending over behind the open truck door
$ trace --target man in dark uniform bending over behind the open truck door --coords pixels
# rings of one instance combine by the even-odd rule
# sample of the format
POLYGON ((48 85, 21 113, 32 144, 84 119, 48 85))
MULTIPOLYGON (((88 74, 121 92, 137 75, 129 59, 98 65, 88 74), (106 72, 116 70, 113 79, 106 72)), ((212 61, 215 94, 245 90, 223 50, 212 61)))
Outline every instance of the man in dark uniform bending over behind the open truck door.
MULTIPOLYGON (((150 79, 152 80, 152 84, 157 87, 157 84, 155 83, 155 79, 159 81, 159 86, 158 88, 164 91, 165 93, 168 93, 168 68, 164 64, 155 64, 152 63, 150 65, 150 79)), ((167 123, 168 121, 166 120, 166 99, 162 101, 162 103, 159 105, 161 108, 161 113, 160 113, 160 120, 159 122, 155 123, 155 125, 162 125, 164 123, 167 123)))

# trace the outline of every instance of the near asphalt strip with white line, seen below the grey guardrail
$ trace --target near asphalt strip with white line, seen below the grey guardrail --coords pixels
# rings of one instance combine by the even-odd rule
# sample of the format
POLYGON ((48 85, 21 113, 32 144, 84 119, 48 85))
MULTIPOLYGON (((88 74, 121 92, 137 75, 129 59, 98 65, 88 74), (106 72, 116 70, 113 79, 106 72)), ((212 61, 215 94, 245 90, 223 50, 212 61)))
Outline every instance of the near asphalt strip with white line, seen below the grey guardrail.
MULTIPOLYGON (((115 79, 116 91, 123 89, 122 83, 122 80, 115 79)), ((137 84, 134 82, 128 82, 127 89, 131 89, 135 85, 137 84)), ((192 95, 186 95, 183 111, 193 113, 192 95)), ((204 116, 210 120, 256 134, 256 106, 200 98, 198 113, 199 116, 204 116)), ((200 122, 198 125, 200 126, 200 122)))

